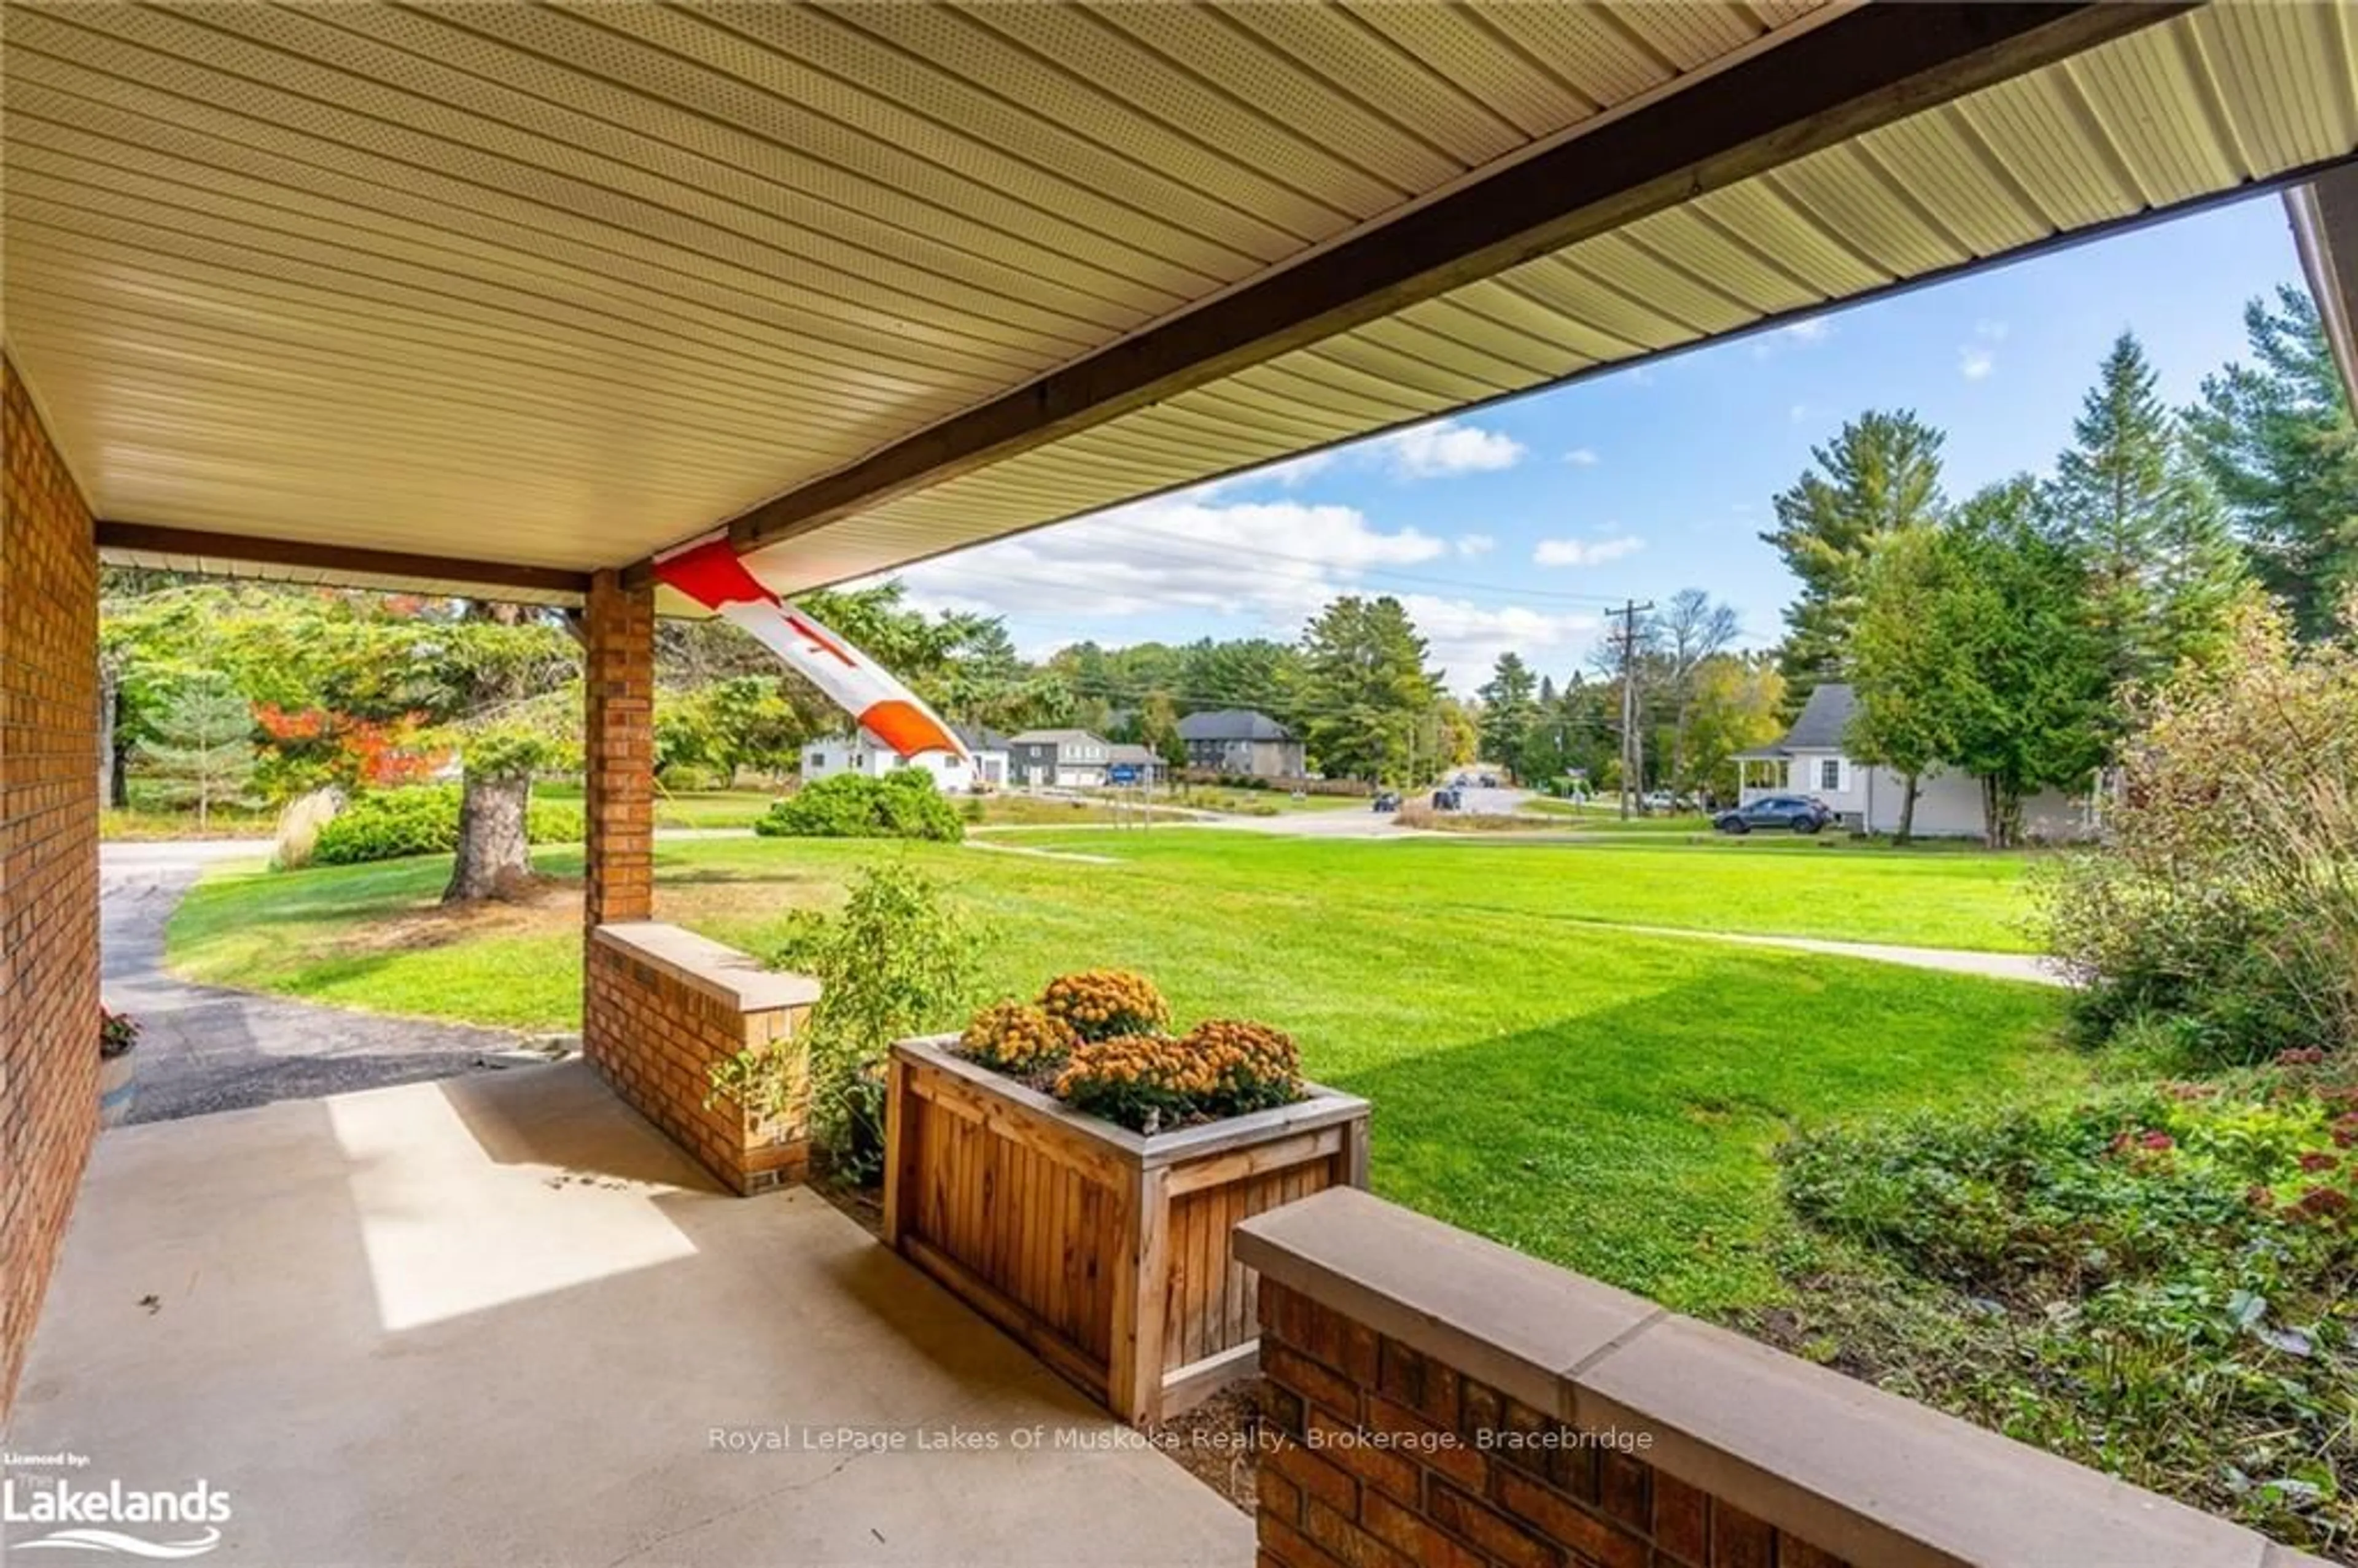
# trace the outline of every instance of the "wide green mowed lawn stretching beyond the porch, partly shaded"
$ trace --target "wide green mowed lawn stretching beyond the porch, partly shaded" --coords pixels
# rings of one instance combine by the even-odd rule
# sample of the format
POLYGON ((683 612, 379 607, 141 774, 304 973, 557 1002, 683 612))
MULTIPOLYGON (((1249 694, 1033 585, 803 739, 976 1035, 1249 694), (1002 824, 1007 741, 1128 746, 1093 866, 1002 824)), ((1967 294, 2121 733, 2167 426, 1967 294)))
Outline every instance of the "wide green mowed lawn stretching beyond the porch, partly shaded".
MULTIPOLYGON (((1026 842, 1042 842, 1030 835, 1026 842)), ((1052 835, 1118 865, 953 846, 658 846, 667 920, 750 950, 851 868, 910 856, 990 922, 995 990, 1127 964, 1181 1019, 1292 1030, 1309 1070, 1375 1101, 1375 1186, 1540 1257, 1726 1311, 1776 1294, 1768 1165, 1792 1127, 1893 1106, 2061 1092, 2061 997, 2030 986, 1606 931, 1582 920, 2004 929, 2018 868, 1240 832, 1052 835)), ((575 872, 575 851, 542 851, 575 872)), ((564 1028, 578 913, 432 913, 446 861, 224 868, 172 920, 191 976, 564 1028)))

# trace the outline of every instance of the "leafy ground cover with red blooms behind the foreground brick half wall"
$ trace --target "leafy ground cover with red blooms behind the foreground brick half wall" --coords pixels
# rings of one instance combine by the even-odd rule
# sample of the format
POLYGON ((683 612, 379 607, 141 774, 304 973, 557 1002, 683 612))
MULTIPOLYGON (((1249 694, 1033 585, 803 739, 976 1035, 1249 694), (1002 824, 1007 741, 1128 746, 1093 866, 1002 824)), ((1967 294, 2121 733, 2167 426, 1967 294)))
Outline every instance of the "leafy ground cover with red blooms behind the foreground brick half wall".
POLYGON ((1783 1153, 1787 1344, 2040 1448, 2358 1544, 2358 1092, 2304 1066, 1919 1113, 1783 1153))

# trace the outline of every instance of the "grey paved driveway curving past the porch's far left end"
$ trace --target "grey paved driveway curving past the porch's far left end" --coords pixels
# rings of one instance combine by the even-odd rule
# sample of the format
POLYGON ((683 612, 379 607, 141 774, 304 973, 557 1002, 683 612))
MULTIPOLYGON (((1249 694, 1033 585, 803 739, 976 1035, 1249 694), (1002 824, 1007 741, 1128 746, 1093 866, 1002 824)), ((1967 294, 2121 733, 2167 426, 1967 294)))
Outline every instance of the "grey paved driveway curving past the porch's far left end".
POLYGON ((106 1004, 139 1019, 134 1122, 266 1106, 469 1073, 514 1061, 521 1035, 380 1019, 191 986, 163 969, 163 929, 208 863, 266 856, 269 844, 106 844, 99 849, 99 948, 106 1004))

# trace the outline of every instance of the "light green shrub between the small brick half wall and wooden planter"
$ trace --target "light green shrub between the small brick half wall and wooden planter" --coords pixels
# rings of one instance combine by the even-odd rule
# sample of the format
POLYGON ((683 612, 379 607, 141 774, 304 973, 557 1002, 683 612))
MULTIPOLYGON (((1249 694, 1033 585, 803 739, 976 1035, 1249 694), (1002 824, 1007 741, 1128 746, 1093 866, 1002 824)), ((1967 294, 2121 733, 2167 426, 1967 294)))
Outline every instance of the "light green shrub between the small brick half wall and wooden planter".
POLYGON ((818 981, 802 1037, 717 1063, 712 1099, 783 1115, 802 1087, 797 1054, 809 1052, 811 1141, 839 1170, 872 1177, 884 1146, 884 1056, 894 1040, 941 1030, 971 1007, 981 946, 981 931, 924 872, 863 868, 842 915, 790 922, 783 953, 818 981))

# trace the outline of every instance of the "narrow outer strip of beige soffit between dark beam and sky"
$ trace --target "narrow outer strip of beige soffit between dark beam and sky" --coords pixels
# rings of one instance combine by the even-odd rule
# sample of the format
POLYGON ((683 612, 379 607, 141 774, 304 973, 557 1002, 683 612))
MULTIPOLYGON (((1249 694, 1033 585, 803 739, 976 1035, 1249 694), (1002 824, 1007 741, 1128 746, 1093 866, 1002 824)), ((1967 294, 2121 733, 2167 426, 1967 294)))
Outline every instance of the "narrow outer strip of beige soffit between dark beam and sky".
POLYGON ((2209 5, 752 561, 780 589, 858 578, 2353 151, 2358 9, 2209 5))

